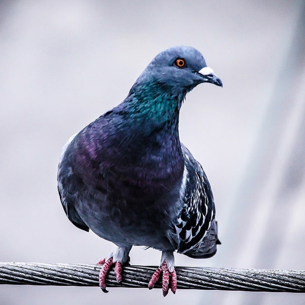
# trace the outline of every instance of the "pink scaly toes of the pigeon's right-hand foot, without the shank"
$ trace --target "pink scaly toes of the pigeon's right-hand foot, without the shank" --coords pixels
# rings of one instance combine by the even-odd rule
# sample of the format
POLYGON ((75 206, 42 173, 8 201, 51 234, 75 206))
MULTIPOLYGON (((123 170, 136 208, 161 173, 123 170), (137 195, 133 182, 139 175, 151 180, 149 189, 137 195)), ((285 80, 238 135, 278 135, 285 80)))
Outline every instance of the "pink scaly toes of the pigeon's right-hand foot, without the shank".
POLYGON ((153 274, 151 277, 148 288, 153 289, 157 281, 159 280, 161 273, 162 275, 162 292, 163 296, 166 296, 169 291, 169 278, 171 278, 170 281, 170 290, 172 293, 176 293, 177 290, 177 275, 176 275, 176 270, 174 269, 172 272, 168 270, 167 263, 164 262, 153 274))

